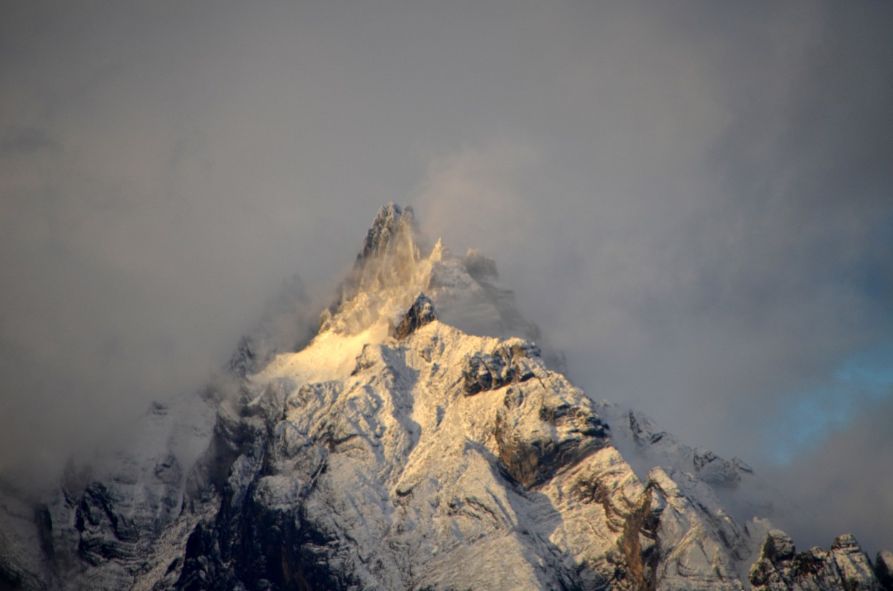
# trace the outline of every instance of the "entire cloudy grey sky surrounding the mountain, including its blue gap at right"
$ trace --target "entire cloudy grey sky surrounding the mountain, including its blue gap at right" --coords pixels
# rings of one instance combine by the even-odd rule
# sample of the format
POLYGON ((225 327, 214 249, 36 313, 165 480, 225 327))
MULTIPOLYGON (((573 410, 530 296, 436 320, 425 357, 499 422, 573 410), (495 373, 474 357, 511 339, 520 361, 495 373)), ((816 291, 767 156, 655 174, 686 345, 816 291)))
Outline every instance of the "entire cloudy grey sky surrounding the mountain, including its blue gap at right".
POLYGON ((0 472, 201 384, 395 201, 495 258, 594 398, 783 474, 798 545, 893 549, 891 30, 887 2, 4 2, 0 472))

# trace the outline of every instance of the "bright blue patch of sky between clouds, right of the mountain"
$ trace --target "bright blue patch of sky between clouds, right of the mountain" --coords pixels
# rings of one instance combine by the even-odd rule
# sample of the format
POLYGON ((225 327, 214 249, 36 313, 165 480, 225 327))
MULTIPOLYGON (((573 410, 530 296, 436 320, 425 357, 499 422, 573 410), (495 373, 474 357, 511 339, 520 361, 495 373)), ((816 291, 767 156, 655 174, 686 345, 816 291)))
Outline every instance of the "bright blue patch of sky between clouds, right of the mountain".
POLYGON ((822 383, 780 402, 780 414, 764 425, 765 452, 772 462, 788 464, 889 396, 893 396, 893 343, 853 355, 822 383))

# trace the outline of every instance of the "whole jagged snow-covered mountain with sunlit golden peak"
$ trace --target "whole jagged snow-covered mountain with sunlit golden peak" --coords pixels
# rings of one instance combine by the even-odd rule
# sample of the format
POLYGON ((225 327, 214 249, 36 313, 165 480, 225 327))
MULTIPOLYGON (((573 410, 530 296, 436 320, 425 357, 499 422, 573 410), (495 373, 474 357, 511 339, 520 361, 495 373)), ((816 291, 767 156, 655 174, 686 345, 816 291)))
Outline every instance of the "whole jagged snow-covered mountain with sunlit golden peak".
POLYGON ((747 464, 573 386, 496 264, 409 207, 312 337, 304 301, 127 449, 0 493, 0 589, 893 588, 893 554, 797 554, 747 464))

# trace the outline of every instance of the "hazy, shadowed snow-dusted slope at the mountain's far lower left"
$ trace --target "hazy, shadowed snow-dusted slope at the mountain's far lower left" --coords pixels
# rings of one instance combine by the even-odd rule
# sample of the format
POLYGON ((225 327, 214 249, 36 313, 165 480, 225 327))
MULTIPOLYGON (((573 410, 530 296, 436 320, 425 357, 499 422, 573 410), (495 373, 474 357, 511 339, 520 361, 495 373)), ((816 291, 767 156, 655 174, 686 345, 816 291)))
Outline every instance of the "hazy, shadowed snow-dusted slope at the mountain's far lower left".
MULTIPOLYGON (((163 572, 203 518, 184 512, 184 501, 212 427, 213 411, 197 395, 155 403, 127 448, 91 466, 71 462, 30 524, 0 511, 0 589, 138 588, 146 573, 163 572)), ((0 493, 0 503, 12 501, 0 493)))

